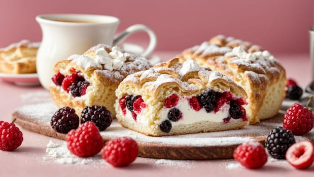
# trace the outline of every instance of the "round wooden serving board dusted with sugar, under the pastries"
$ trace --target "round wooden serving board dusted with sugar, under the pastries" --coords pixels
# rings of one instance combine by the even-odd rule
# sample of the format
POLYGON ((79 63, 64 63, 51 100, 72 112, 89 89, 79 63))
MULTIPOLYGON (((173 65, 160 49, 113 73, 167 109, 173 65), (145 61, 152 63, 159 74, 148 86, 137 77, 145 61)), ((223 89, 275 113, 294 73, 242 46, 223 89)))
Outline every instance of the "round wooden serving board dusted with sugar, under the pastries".
MULTIPOLYGON (((50 126, 50 119, 58 108, 53 102, 25 105, 13 113, 16 123, 25 129, 64 140, 65 134, 59 134, 50 126)), ((104 141, 129 136, 139 146, 139 157, 158 159, 228 159, 232 158, 234 149, 241 143, 257 140, 265 143, 268 132, 276 126, 282 126, 284 111, 274 118, 255 125, 248 125, 237 130, 207 132, 200 134, 150 137, 122 127, 114 120, 110 127, 101 131, 104 141)), ((305 136, 295 136, 296 141, 314 142, 314 130, 305 136)))

